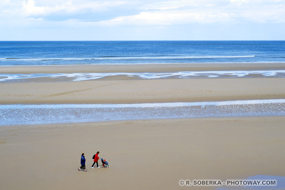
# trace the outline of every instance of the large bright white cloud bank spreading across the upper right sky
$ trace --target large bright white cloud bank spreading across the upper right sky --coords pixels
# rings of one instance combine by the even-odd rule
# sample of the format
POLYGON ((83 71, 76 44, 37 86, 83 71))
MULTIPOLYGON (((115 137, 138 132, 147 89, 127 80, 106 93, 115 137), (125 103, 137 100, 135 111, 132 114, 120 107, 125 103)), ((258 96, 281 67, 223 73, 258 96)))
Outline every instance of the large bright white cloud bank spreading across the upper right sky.
POLYGON ((170 26, 191 23, 284 23, 281 0, 192 0, 147 4, 137 15, 89 23, 94 26, 170 26))

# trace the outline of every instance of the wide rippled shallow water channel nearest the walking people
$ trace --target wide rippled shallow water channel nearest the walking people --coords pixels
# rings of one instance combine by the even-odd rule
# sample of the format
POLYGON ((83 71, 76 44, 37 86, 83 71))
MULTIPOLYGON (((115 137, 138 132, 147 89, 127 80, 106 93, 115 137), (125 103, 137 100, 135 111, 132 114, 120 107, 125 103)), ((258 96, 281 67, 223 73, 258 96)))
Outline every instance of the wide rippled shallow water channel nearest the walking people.
POLYGON ((150 104, 0 105, 0 125, 283 115, 285 99, 150 104))

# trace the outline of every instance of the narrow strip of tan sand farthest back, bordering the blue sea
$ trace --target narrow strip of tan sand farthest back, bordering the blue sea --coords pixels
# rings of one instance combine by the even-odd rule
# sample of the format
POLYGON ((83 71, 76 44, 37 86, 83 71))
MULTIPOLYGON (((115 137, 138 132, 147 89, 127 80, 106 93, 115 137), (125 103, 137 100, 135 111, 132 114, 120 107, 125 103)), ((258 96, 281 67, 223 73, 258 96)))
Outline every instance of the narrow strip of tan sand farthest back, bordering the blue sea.
POLYGON ((94 64, 94 65, 31 65, 1 66, 0 73, 106 73, 106 72, 177 72, 177 71, 230 71, 282 70, 285 63, 189 63, 189 64, 94 64))

